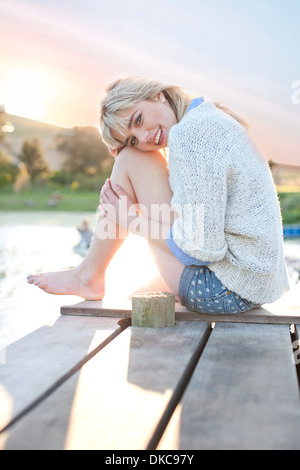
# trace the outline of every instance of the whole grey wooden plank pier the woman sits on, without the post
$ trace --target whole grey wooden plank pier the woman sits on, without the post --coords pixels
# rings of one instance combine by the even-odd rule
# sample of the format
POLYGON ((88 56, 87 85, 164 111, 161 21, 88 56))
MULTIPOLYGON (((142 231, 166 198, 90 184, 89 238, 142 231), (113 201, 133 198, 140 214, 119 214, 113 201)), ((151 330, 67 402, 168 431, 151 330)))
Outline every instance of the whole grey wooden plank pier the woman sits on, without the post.
POLYGON ((168 328, 132 327, 128 302, 61 313, 7 348, 1 449, 300 449, 299 304, 176 304, 168 328))

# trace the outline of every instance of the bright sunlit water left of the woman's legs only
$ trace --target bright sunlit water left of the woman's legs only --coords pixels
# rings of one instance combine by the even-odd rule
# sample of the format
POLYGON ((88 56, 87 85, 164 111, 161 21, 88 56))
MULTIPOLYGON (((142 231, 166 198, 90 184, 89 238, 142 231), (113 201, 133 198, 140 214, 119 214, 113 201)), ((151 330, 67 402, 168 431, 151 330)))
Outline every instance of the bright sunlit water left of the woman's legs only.
MULTIPOLYGON (((26 282, 30 272, 77 266, 81 213, 0 214, 0 341, 6 345, 59 315, 61 297, 49 296, 26 282)), ((94 215, 91 215, 93 220, 94 215)), ((78 297, 68 296, 75 303, 78 297)))

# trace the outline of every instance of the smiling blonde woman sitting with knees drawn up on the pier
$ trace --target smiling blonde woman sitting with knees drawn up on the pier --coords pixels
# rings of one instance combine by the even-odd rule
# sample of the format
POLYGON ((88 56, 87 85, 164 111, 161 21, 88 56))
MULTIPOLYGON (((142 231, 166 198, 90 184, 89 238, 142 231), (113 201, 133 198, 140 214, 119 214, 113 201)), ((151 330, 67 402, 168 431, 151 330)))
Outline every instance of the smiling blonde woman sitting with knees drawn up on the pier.
POLYGON ((105 270, 129 230, 149 240, 162 278, 191 310, 244 312, 288 290, 273 180, 235 114, 129 77, 107 89, 100 131, 117 158, 101 191, 97 236, 80 266, 29 283, 102 298, 105 270))

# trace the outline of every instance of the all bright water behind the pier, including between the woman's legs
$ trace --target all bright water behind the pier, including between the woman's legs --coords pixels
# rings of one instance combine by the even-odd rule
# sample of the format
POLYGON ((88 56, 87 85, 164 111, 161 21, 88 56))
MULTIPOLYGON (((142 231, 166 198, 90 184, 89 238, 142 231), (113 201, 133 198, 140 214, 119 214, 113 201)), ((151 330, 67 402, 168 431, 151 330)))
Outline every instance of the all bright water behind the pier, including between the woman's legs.
MULTIPOLYGON (((73 250, 80 240, 76 226, 86 216, 93 229, 94 213, 0 213, 0 350, 43 325, 53 325, 62 305, 81 301, 76 296, 46 294, 27 284, 26 276, 77 266, 82 258, 73 250)), ((291 284, 299 287, 300 240, 286 242, 285 250, 291 284)), ((145 240, 129 238, 111 263, 110 272, 114 280, 116 273, 119 276, 118 291, 124 298, 155 277, 157 270, 145 240)), ((109 291, 112 285, 115 282, 108 283, 107 296, 115 298, 115 290, 109 291)))

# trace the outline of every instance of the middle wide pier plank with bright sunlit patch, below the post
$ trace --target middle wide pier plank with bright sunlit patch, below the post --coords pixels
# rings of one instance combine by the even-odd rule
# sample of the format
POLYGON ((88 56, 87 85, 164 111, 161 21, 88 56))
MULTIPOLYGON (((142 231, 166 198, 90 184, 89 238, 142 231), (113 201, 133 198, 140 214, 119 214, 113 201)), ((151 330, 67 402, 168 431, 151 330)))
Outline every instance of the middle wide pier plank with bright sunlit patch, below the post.
POLYGON ((127 328, 0 435, 0 448, 144 449, 207 328, 127 328))

